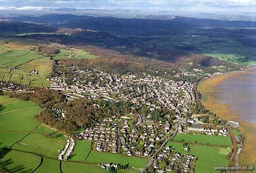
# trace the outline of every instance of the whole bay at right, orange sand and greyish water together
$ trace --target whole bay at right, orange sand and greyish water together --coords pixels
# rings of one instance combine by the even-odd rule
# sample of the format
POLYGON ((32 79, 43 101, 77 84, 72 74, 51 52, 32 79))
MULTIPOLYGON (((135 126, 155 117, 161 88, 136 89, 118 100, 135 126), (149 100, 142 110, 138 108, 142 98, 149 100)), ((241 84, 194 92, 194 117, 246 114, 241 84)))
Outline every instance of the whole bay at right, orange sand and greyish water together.
POLYGON ((242 166, 256 166, 256 69, 203 80, 198 85, 202 104, 220 118, 240 123, 245 137, 239 155, 242 166))

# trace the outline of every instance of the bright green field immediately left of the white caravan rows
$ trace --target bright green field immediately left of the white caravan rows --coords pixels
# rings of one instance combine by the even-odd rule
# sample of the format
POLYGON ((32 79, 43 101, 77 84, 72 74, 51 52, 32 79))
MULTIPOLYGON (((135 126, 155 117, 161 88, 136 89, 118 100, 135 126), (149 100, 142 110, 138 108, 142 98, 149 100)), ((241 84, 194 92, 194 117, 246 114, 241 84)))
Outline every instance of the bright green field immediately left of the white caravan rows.
POLYGON ((57 158, 58 150, 62 149, 64 145, 64 142, 45 137, 43 134, 29 134, 20 143, 14 145, 13 148, 57 158))

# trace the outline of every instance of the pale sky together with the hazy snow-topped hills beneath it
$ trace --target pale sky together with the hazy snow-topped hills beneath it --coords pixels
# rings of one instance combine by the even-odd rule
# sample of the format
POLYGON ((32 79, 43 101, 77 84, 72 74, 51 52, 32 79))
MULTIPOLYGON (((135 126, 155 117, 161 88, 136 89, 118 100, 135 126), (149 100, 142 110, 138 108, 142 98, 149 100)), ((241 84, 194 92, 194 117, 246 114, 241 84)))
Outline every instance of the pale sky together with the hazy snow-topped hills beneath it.
POLYGON ((39 14, 93 14, 102 16, 192 16, 234 20, 255 19, 256 1, 254 0, 0 0, 1 16, 39 15, 39 14), (248 18, 247 18, 248 17, 248 18))

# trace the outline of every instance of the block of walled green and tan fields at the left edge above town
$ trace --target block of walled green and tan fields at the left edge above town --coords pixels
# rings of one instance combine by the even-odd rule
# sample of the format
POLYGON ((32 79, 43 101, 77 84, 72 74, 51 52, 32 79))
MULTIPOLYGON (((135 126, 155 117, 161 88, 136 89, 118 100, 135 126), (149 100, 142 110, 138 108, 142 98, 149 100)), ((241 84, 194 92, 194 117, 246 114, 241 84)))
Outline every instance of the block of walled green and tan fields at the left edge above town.
POLYGON ((20 83, 30 87, 49 87, 49 75, 53 62, 49 59, 39 59, 41 55, 35 51, 14 50, 0 55, 0 80, 3 82, 20 83), (16 67, 9 72, 8 68, 16 67), (38 74, 30 75, 36 70, 38 74), (4 78, 3 78, 4 76, 4 78))

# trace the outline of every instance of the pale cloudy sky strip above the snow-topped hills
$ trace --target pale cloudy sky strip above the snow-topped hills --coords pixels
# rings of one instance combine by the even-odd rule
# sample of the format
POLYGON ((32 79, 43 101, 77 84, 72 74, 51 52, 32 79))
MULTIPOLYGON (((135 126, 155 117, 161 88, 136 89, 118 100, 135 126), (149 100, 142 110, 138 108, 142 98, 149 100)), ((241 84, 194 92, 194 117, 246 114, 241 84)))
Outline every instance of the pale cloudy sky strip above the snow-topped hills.
POLYGON ((44 7, 255 13, 256 0, 0 0, 0 9, 39 10, 44 7))

